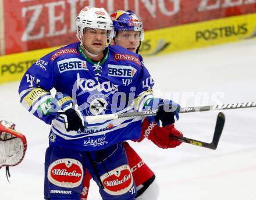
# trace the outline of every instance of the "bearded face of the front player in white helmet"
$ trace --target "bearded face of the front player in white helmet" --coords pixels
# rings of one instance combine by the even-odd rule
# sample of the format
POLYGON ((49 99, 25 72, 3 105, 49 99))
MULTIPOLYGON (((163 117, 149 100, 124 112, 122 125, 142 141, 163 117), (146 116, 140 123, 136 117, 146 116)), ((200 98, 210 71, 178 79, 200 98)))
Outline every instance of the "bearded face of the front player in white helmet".
POLYGON ((98 55, 106 47, 107 30, 86 28, 83 35, 84 48, 90 53, 98 55))

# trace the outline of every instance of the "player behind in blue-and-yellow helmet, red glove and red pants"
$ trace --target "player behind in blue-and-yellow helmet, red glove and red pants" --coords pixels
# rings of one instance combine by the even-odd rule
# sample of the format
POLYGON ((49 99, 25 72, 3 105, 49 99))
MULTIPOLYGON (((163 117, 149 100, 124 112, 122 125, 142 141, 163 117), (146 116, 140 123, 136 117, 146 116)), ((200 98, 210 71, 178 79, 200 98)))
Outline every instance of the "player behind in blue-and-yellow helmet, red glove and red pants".
MULTIPOLYGON (((131 10, 117 10, 112 13, 111 19, 114 27, 114 37, 112 45, 120 45, 125 47, 129 51, 138 53, 141 41, 144 39, 143 22, 140 18, 131 10)), ((141 141, 145 138, 145 133, 150 135, 150 139, 161 148, 173 148, 180 144, 179 141, 170 140, 168 135, 182 135, 179 130, 176 130, 172 122, 166 122, 171 120, 164 119, 165 127, 160 127, 154 122, 148 123, 148 119, 143 120, 141 128, 141 141), (158 135, 157 138, 152 135, 158 135)), ((159 196, 159 184, 157 178, 155 178, 154 172, 148 167, 148 165, 140 158, 140 156, 134 151, 128 142, 123 142, 125 148, 131 173, 134 178, 134 182, 137 187, 136 199, 140 200, 156 200, 159 196), (139 166, 139 167, 138 167, 139 166)), ((81 199, 87 199, 89 187, 90 187, 90 174, 87 173, 84 179, 84 188, 87 188, 86 192, 82 192, 81 199)))

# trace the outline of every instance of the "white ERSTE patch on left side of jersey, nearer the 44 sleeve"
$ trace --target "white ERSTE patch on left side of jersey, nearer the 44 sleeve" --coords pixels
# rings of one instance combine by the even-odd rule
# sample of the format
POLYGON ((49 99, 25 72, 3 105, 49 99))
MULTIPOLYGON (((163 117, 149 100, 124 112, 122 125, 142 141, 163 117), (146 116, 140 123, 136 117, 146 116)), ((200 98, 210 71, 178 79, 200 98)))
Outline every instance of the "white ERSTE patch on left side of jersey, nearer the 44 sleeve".
POLYGON ((78 58, 69 58, 58 61, 59 72, 66 72, 71 70, 88 70, 86 61, 78 58))

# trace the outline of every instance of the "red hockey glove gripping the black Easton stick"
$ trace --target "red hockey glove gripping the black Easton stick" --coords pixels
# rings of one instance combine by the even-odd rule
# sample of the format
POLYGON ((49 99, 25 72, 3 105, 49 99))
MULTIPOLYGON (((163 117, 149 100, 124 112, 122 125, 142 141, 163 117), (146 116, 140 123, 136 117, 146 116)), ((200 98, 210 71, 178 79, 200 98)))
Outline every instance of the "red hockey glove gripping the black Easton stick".
POLYGON ((151 140, 155 145, 160 148, 174 148, 182 144, 182 142, 174 139, 170 139, 169 135, 183 136, 182 132, 177 130, 174 124, 170 124, 169 126, 159 127, 157 123, 152 122, 148 123, 148 119, 146 118, 143 121, 141 127, 141 138, 138 141, 143 140, 145 137, 148 140, 151 140))

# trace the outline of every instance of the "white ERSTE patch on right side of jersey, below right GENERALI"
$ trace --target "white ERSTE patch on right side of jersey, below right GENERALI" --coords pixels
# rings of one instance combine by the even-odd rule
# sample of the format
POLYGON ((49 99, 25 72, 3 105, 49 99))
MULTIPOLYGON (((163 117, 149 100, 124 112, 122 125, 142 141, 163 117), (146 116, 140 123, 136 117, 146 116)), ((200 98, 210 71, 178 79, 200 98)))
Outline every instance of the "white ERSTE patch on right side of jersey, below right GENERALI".
POLYGON ((132 78, 136 72, 132 66, 108 65, 108 76, 132 78))

